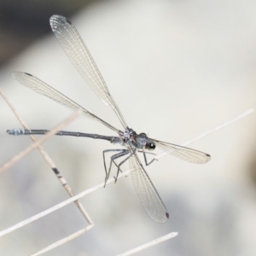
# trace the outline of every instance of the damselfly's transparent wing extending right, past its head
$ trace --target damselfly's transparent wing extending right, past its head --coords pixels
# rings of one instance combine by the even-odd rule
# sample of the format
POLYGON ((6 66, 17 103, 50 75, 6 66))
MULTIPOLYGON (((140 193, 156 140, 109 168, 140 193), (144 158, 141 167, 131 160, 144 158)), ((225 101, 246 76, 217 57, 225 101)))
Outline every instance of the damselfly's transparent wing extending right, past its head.
POLYGON ((148 140, 154 142, 155 146, 160 148, 161 150, 166 151, 169 154, 177 156, 178 158, 188 161, 190 163, 205 164, 209 160, 211 160, 210 154, 192 148, 185 148, 172 143, 164 143, 154 140, 152 138, 148 138, 148 140))

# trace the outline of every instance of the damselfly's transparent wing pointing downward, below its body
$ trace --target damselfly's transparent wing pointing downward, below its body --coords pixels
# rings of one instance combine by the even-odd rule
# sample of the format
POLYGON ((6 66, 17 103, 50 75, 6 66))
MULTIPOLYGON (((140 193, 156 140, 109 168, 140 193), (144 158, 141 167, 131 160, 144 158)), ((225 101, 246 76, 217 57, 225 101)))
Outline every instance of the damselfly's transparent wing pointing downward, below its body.
POLYGON ((148 216, 156 222, 166 222, 169 218, 169 213, 137 154, 132 154, 129 160, 132 182, 148 216))

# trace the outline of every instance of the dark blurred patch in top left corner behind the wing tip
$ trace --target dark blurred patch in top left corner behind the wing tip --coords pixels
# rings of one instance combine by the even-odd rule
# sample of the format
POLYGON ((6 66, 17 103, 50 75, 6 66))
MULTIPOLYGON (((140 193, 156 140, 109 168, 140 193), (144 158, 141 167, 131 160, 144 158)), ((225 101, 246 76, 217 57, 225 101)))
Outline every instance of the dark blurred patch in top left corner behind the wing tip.
POLYGON ((0 67, 37 38, 51 32, 51 15, 70 16, 97 0, 1 1, 0 67))

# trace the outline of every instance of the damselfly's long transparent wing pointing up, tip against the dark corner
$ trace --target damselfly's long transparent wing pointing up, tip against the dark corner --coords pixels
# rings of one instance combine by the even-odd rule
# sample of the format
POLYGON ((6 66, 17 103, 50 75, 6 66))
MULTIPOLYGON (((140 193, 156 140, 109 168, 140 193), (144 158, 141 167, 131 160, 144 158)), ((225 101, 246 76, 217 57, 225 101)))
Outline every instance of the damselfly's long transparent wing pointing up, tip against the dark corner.
POLYGON ((72 61, 73 66, 79 71, 85 82, 96 93, 102 102, 107 104, 117 114, 121 124, 127 128, 125 119, 119 111, 113 97, 108 91, 107 84, 102 78, 102 74, 96 67, 89 50, 80 37, 79 32, 70 20, 60 15, 53 15, 49 19, 49 24, 56 38, 59 40, 67 57, 72 61))

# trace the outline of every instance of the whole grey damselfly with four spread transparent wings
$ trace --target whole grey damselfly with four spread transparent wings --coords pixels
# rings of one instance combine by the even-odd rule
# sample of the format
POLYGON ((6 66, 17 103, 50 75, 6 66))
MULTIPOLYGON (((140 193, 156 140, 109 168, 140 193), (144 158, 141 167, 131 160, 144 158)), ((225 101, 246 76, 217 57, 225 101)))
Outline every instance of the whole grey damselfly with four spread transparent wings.
MULTIPOLYGON (((74 137, 90 137, 95 139, 107 140, 113 144, 120 144, 125 146, 123 149, 107 149, 103 151, 104 168, 106 172, 105 184, 108 181, 111 167, 117 166, 116 180, 121 171, 120 167, 129 160, 131 178, 134 187, 137 191, 137 195, 142 201, 143 207, 150 218, 156 222, 164 223, 169 218, 169 213, 160 199, 160 195, 154 188, 154 184, 148 177, 141 160, 139 159, 137 152, 143 153, 145 165, 150 165, 155 159, 148 161, 147 154, 152 154, 154 148, 160 148, 161 150, 177 156, 182 160, 189 161, 195 164, 204 164, 211 159, 209 154, 197 151, 191 148, 185 148, 171 143, 164 143, 156 139, 150 138, 146 133, 137 134, 132 130, 125 122, 123 115, 121 114, 117 104, 114 102, 113 97, 110 95, 107 85, 105 84, 101 73, 96 67, 96 63, 93 61, 89 50, 84 44, 84 41, 79 35, 79 32, 73 26, 70 20, 60 15, 53 15, 49 20, 52 31, 55 33, 56 38, 59 40, 62 48, 66 52, 67 57, 72 61, 73 66, 79 71, 85 82, 90 85, 90 88, 96 93, 102 102, 107 104, 116 113, 123 130, 119 130, 113 125, 108 124, 104 120, 98 118, 95 114, 90 113, 85 108, 81 107, 78 103, 73 102, 67 96, 61 94, 61 92, 53 89, 48 84, 35 78, 28 73, 12 73, 13 77, 25 85, 28 88, 38 92, 43 96, 47 96, 55 102, 70 108, 72 110, 81 110, 84 116, 90 119, 99 121, 103 125, 106 125, 109 129, 115 131, 117 136, 109 137, 97 134, 88 134, 82 132, 73 131, 59 131, 56 135, 61 136, 74 136, 74 137), (148 152, 149 151, 149 152, 148 152), (110 159, 110 164, 107 168, 105 161, 105 154, 113 152, 110 159), (124 157, 119 163, 116 162, 120 157, 124 157)), ((28 134, 44 134, 48 130, 23 130, 13 129, 7 131, 12 135, 28 135, 28 134)))

